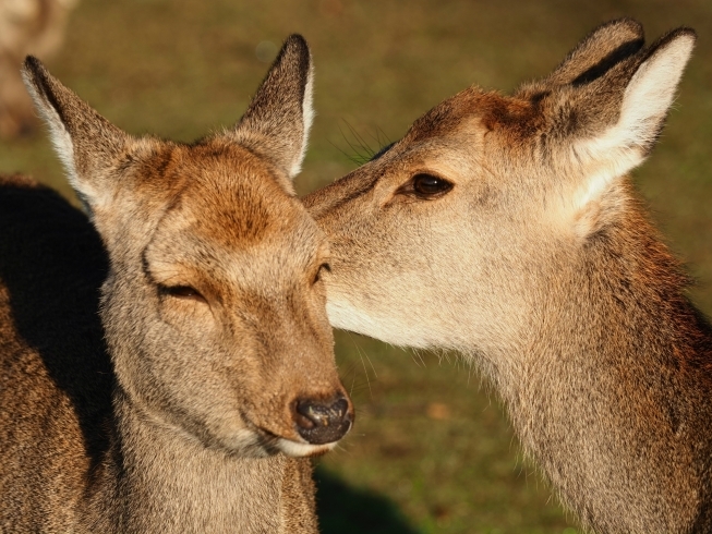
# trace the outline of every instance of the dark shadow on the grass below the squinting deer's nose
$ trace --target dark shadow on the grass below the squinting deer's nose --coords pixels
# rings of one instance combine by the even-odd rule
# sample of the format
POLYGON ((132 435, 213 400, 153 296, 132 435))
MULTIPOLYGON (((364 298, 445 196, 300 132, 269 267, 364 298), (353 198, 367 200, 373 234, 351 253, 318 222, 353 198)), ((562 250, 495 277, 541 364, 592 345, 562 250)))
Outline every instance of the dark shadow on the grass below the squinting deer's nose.
POLYGON ((388 498, 350 487, 323 466, 314 478, 322 534, 419 534, 388 498))

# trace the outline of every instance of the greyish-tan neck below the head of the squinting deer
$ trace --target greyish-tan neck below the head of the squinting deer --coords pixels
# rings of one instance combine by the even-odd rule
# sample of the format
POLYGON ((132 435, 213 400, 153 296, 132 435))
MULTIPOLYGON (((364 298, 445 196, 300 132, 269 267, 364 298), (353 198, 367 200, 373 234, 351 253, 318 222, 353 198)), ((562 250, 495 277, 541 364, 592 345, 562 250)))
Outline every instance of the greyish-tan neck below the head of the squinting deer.
POLYGON ((93 508, 105 532, 281 532, 281 454, 238 458, 147 417, 120 389, 93 508), (100 512, 99 512, 100 515, 100 512))

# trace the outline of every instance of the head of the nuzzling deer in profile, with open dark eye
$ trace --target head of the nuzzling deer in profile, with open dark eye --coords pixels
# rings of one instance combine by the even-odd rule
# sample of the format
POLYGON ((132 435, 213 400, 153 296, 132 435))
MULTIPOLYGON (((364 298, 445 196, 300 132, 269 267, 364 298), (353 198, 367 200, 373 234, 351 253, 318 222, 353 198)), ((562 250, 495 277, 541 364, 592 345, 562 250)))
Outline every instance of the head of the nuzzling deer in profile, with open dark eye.
POLYGON ((626 216, 624 177, 654 145, 693 45, 688 28, 643 48, 638 23, 605 24, 547 77, 510 97, 468 88, 309 195, 331 245, 331 324, 511 357, 569 259, 626 216))

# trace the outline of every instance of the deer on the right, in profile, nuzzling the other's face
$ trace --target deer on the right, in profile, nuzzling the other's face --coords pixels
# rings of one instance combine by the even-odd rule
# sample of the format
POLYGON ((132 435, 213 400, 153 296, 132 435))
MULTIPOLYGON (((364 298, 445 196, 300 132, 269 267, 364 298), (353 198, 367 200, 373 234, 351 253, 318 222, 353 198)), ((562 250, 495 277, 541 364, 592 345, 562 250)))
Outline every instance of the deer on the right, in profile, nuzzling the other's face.
POLYGON ((712 532, 712 328, 631 184, 696 43, 630 19, 304 197, 333 326, 452 350, 584 529, 712 532))

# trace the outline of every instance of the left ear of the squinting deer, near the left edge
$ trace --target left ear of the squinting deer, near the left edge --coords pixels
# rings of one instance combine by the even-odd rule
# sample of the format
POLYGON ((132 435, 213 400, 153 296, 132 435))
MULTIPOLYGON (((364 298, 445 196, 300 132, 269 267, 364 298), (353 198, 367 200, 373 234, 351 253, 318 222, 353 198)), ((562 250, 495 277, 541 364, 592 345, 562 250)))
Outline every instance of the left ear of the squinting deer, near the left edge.
POLYGON ((22 76, 80 199, 89 211, 110 201, 114 184, 108 171, 124 154, 129 135, 64 87, 37 58, 27 57, 22 76))

